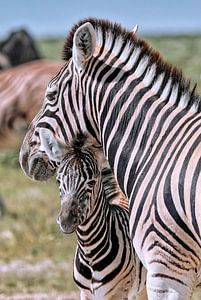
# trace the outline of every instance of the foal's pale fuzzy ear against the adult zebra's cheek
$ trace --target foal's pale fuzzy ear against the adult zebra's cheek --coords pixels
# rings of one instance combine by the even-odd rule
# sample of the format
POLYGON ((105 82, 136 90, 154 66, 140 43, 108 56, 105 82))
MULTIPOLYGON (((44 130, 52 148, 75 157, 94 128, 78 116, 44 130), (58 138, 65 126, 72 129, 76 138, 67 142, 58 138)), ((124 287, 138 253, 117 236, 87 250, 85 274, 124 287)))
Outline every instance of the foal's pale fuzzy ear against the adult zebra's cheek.
POLYGON ((66 153, 66 146, 59 142, 52 131, 47 128, 39 129, 41 150, 45 151, 48 158, 60 162, 66 153))

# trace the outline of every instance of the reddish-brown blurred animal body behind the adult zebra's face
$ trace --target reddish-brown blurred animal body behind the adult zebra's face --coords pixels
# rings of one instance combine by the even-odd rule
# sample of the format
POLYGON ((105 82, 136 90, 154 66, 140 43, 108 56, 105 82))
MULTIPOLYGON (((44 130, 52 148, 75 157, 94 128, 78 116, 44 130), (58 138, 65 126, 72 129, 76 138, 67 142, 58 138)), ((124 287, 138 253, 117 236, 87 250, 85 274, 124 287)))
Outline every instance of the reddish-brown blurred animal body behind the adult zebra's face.
POLYGON ((18 148, 60 62, 37 60, 0 72, 0 148, 18 148))

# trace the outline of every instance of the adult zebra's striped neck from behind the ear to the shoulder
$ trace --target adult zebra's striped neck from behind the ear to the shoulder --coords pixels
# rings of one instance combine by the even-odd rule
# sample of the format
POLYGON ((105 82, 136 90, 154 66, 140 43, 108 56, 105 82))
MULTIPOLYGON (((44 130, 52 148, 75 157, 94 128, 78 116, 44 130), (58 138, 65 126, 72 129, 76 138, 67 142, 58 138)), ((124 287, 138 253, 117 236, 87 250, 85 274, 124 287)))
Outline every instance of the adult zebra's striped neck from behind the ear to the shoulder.
POLYGON ((115 39, 109 30, 97 29, 97 36, 94 58, 82 75, 84 78, 87 74, 88 80, 93 78, 98 83, 86 83, 90 88, 86 91, 88 123, 94 135, 100 133, 105 156, 121 189, 128 195, 119 165, 128 162, 132 150, 135 164, 132 175, 135 176, 144 148, 151 147, 148 143, 150 128, 162 120, 162 113, 161 118, 156 119, 159 112, 165 107, 168 114, 191 116, 200 111, 200 102, 194 89, 190 90, 189 81, 143 41, 132 38, 125 42, 121 35, 115 39))

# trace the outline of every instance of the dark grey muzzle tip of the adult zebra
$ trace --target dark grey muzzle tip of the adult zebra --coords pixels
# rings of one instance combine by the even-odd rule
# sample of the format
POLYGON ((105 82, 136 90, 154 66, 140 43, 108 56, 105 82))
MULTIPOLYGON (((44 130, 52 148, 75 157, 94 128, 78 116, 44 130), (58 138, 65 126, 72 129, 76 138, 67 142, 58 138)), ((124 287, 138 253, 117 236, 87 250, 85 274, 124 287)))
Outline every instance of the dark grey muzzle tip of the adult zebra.
POLYGON ((29 159, 29 176, 33 180, 43 181, 52 177, 56 171, 56 168, 53 168, 48 159, 45 159, 43 156, 33 156, 29 159))

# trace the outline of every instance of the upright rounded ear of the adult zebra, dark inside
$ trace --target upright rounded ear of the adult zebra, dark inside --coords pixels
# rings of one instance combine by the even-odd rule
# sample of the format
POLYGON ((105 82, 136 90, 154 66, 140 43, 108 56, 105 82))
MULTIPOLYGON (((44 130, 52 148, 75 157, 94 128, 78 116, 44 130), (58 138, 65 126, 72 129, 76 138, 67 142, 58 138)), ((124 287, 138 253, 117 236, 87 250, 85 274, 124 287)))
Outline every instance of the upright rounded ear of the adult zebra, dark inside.
POLYGON ((92 57, 96 46, 96 32, 87 22, 80 26, 73 38, 73 61, 78 69, 83 69, 85 63, 92 57))

